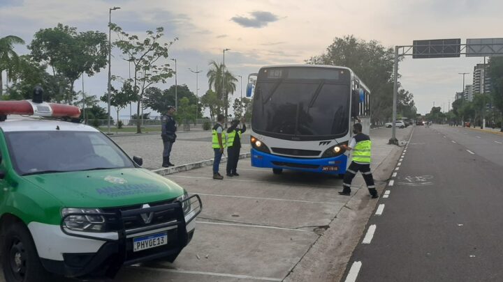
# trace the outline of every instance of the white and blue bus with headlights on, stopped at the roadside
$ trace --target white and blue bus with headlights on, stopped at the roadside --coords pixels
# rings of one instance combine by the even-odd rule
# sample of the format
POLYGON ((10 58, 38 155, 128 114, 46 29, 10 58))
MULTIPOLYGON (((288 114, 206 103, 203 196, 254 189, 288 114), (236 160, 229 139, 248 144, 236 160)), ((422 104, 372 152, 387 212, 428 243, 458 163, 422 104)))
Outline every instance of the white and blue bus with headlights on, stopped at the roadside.
MULTIPOLYGON (((253 93, 251 166, 342 175, 352 124, 370 133, 370 91, 349 68, 272 65, 261 68, 253 93)), ((254 87, 253 87, 254 86, 254 87)))

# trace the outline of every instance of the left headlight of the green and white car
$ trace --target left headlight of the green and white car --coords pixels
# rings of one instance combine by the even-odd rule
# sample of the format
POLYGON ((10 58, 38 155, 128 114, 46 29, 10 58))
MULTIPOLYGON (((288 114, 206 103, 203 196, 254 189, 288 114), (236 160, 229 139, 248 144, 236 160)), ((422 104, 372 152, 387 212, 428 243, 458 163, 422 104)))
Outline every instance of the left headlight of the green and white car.
POLYGON ((103 232, 105 218, 99 209, 66 207, 61 210, 63 227, 75 231, 103 232))

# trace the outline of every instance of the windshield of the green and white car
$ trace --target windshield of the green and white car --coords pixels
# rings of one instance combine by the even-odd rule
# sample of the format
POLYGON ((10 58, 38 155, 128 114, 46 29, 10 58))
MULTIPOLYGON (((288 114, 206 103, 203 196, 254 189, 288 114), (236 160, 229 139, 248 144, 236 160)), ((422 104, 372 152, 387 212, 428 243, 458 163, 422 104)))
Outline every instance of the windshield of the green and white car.
POLYGON ((6 132, 6 140, 20 175, 134 167, 101 132, 6 132))

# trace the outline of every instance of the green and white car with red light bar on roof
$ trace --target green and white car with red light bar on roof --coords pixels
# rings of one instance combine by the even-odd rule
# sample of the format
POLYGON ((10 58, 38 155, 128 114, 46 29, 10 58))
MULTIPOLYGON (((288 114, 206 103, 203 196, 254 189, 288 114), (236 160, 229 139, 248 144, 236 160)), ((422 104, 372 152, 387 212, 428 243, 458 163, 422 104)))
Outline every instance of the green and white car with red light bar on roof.
POLYGON ((175 260, 194 235, 199 196, 142 169, 140 157, 93 127, 40 117, 80 114, 68 107, 0 102, 6 281, 113 277, 122 265, 175 260))

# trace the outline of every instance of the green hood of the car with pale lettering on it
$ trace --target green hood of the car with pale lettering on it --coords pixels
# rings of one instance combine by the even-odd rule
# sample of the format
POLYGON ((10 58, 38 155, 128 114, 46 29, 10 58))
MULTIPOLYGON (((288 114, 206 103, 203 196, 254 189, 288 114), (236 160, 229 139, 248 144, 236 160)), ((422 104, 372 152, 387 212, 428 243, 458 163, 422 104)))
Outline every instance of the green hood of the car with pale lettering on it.
POLYGON ((175 182, 147 169, 106 169, 27 175, 64 207, 119 207, 182 196, 175 182))

